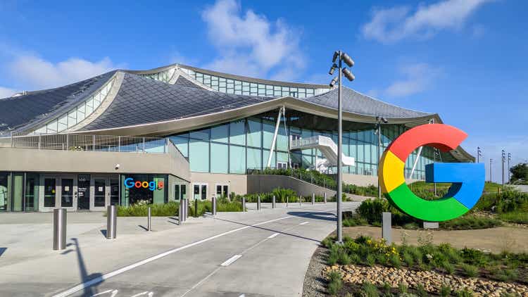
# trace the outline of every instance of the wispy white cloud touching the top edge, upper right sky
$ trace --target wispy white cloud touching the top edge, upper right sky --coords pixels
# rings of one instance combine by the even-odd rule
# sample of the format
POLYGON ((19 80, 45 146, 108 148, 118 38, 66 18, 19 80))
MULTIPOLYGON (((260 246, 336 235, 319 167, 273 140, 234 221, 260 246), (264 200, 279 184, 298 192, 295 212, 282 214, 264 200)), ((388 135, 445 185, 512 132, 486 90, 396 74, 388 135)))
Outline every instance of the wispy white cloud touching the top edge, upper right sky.
POLYGON ((429 5, 375 9, 372 20, 363 25, 367 39, 382 43, 407 37, 427 39, 439 30, 458 30, 467 18, 486 2, 493 0, 444 0, 429 5))

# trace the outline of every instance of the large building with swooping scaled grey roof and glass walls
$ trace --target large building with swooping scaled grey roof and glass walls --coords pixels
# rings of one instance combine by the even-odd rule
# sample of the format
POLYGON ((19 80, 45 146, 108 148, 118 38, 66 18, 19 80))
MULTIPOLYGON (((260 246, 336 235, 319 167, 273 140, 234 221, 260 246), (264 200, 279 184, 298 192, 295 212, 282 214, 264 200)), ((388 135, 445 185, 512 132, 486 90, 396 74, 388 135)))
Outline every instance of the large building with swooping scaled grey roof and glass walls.
MULTIPOLYGON (((383 149, 406 129, 442 122, 344 88, 344 181, 377 184, 383 149), (376 125, 381 125, 378 141, 376 125)), ((0 99, 0 211, 103 210, 245 194, 251 170, 336 172, 337 89, 168 65, 115 70, 0 99), (270 154, 270 151, 272 152, 270 154)), ((463 148, 419 149, 406 176, 463 148)))

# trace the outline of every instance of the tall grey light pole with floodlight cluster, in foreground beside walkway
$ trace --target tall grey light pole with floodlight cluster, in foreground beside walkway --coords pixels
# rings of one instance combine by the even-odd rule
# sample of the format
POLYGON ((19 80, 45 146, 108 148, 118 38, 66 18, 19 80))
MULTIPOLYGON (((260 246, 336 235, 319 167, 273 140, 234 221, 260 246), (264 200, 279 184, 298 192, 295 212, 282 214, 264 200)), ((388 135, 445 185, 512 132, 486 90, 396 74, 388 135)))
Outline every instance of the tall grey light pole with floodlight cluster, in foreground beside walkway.
POLYGON ((353 81, 354 75, 350 70, 343 68, 343 62, 348 65, 348 67, 352 67, 354 65, 354 61, 350 56, 348 56, 343 51, 334 51, 334 56, 332 57, 332 67, 330 68, 328 74, 334 75, 334 71, 336 68, 339 68, 339 73, 337 77, 334 77, 332 79, 332 82, 330 82, 330 87, 334 87, 336 83, 339 83, 339 87, 337 90, 337 194, 336 194, 336 201, 337 201, 337 242, 341 244, 343 242, 343 217, 341 217, 341 199, 343 196, 343 164, 341 161, 342 158, 342 151, 343 151, 343 104, 341 100, 341 89, 343 87, 343 81, 342 81, 342 75, 345 75, 345 77, 353 81), (338 61, 339 59, 339 61, 338 61), (337 64, 336 64, 337 61, 337 64))

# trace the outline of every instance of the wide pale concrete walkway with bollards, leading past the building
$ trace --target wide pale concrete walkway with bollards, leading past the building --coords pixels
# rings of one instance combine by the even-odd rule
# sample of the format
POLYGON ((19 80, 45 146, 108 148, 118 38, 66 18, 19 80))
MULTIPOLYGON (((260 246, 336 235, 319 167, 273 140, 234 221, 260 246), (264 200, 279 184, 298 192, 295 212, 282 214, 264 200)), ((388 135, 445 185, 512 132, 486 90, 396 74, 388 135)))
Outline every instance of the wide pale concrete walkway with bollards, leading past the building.
POLYGON ((2 215, 0 296, 300 296, 336 206, 279 206, 183 226, 153 217, 153 232, 138 227, 144 217, 119 217, 113 241, 101 213, 68 213, 64 251, 51 250, 51 215, 2 215))

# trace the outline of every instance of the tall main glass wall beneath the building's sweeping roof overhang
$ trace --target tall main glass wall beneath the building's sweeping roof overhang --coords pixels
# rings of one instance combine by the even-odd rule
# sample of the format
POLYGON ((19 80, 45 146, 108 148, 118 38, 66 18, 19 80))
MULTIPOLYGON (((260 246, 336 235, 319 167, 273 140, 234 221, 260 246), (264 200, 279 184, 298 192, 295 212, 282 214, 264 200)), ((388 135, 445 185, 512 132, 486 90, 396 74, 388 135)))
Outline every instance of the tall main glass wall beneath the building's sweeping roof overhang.
MULTIPOLYGON (((331 119, 327 119, 330 120, 331 119)), ((280 124, 270 167, 284 168, 290 163, 294 168, 315 168, 325 157, 317 149, 292 151, 289 153, 289 137, 313 137, 323 135, 337 143, 337 132, 322 129, 336 127, 322 123, 304 125, 306 122, 320 122, 312 115, 293 115, 287 118, 287 127, 280 124)), ((347 156, 356 160, 356 166, 345 166, 344 173, 356 175, 377 175, 378 137, 375 126, 347 122, 344 125, 343 149, 347 156), (357 129, 354 129, 357 128, 357 129)), ((382 125, 382 152, 398 135, 407 128, 403 125, 382 125)), ((270 146, 275 132, 272 115, 260 115, 215 125, 205 129, 170 136, 177 148, 189 159, 191 171, 210 173, 244 174, 248 169, 262 169, 268 163, 270 146)), ((417 158, 415 150, 406 161, 406 177, 410 175, 417 158)), ((425 165, 433 163, 433 148, 424 147, 418 158, 413 179, 425 179, 425 165)), ((454 161, 447 153, 436 156, 436 162, 454 161)), ((330 173, 337 168, 329 168, 330 173)))

